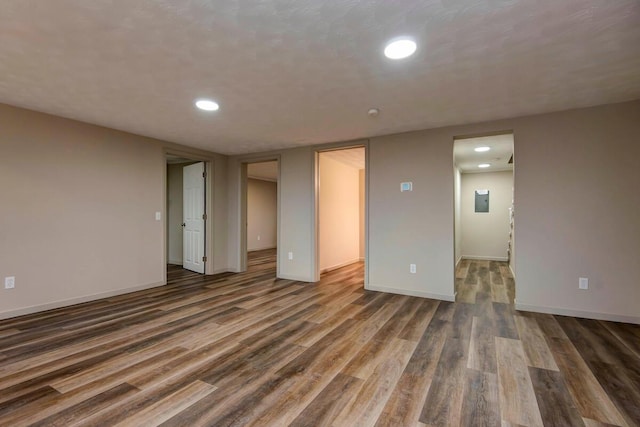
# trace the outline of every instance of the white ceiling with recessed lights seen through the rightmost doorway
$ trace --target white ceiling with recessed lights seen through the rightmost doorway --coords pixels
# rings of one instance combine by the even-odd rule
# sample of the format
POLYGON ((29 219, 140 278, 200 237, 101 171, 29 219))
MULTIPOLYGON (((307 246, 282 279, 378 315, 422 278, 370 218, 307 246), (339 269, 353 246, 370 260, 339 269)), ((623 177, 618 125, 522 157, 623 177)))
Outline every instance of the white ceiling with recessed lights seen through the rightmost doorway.
POLYGON ((513 155, 513 134, 456 139, 453 143, 453 162, 462 173, 498 172, 513 170, 509 159, 513 155), (489 147, 489 151, 478 153, 476 147, 489 147), (478 168, 488 163, 488 168, 478 168))

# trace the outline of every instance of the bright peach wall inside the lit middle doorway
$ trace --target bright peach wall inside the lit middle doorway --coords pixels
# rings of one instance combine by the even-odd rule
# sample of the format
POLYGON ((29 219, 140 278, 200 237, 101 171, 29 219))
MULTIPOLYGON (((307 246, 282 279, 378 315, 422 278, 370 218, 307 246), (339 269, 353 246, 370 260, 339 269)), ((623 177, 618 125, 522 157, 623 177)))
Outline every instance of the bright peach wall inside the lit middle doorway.
POLYGON ((360 259, 360 173, 320 153, 320 271, 360 259))

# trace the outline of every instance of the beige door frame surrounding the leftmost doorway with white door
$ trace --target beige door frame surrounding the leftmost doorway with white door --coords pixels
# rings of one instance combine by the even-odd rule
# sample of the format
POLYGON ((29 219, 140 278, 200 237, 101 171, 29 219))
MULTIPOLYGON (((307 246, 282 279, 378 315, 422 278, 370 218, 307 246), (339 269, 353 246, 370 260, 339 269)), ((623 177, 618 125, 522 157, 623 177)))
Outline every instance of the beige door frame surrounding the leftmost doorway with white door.
POLYGON ((205 238, 204 238, 204 256, 207 257, 207 261, 204 263, 204 274, 214 274, 215 265, 214 265, 214 215, 213 215, 213 200, 214 200, 214 187, 213 187, 213 175, 214 175, 214 161, 215 159, 211 157, 207 157, 198 153, 194 153, 187 150, 181 150, 171 147, 165 147, 163 150, 163 161, 164 167, 162 168, 162 176, 163 176, 163 191, 162 191, 162 244, 163 247, 163 264, 162 264, 162 281, 163 283, 167 283, 167 261, 168 261, 168 239, 169 235, 167 233, 168 226, 168 211, 167 211, 167 158, 168 156, 176 156, 184 159, 189 159, 194 162, 203 162, 204 170, 206 173, 205 177, 205 194, 204 194, 204 209, 207 214, 207 219, 204 222, 205 229, 205 238))

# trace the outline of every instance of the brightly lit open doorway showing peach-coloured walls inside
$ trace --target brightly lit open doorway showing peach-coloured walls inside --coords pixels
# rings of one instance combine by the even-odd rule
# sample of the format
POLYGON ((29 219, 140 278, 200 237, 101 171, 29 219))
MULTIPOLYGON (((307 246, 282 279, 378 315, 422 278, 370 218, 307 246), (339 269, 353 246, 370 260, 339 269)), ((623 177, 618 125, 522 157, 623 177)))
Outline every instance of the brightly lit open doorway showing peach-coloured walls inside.
POLYGON ((364 267, 365 173, 365 147, 318 153, 316 277, 354 263, 364 267))

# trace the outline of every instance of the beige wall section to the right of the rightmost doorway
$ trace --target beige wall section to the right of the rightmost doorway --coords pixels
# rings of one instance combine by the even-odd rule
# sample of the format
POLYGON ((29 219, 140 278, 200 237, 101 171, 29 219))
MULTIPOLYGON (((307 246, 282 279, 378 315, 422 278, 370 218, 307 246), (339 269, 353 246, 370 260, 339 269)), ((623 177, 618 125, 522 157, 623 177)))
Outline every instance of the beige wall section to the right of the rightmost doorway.
POLYGON ((516 122, 519 307, 640 322, 638 135, 637 101, 516 122))

